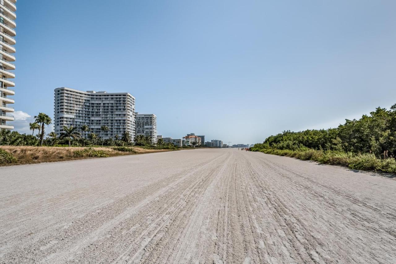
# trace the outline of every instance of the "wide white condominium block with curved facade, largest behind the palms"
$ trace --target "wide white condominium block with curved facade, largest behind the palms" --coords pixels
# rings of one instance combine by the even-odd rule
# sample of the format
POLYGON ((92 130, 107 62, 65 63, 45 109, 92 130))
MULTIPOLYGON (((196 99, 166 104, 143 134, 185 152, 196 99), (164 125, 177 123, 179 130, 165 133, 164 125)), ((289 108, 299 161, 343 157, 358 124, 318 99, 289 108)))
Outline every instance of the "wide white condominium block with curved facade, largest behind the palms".
POLYGON ((56 134, 63 132, 63 126, 74 126, 84 138, 93 132, 100 138, 114 139, 118 135, 121 139, 124 132, 129 132, 133 140, 135 98, 129 93, 83 92, 61 87, 55 89, 54 96, 56 134), (88 132, 81 130, 83 125, 89 127, 88 132), (107 126, 109 130, 102 131, 101 126, 107 126))

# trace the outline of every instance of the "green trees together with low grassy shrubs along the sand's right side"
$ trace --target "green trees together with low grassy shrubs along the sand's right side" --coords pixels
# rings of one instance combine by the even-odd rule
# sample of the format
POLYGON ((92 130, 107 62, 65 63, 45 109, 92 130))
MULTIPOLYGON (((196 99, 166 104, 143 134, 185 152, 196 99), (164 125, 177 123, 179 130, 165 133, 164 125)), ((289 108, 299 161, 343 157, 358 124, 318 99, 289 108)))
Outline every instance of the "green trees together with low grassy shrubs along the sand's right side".
POLYGON ((287 130, 251 150, 396 174, 396 104, 390 109, 377 107, 358 120, 346 119, 337 128, 287 130))

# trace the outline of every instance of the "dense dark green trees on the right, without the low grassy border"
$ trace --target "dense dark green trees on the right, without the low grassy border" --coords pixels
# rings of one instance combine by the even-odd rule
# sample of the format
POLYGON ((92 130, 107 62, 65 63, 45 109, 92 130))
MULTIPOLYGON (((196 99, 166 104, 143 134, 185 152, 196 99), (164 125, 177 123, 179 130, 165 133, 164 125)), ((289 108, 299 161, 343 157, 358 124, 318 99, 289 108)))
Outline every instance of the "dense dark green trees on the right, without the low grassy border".
POLYGON ((378 158, 396 157, 396 104, 390 109, 377 107, 369 115, 345 120, 337 128, 284 131, 269 136, 253 149, 289 149, 307 147, 316 150, 372 153, 378 158))

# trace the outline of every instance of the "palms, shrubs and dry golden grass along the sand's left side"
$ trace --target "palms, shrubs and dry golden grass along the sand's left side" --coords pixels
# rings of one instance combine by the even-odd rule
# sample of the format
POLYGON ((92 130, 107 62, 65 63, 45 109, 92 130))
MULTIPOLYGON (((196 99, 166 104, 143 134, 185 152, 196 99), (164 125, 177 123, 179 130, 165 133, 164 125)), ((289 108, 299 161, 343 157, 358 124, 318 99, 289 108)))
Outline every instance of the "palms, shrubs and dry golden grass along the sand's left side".
POLYGON ((32 134, 0 130, 0 165, 112 157, 178 149, 172 143, 165 144, 163 140, 153 145, 151 137, 142 135, 136 136, 133 143, 129 132, 124 132, 121 137, 116 135, 109 138, 107 126, 102 126, 99 134, 91 132, 87 125, 64 126, 59 136, 55 132, 46 134, 46 128, 51 122, 48 115, 39 113, 34 117, 34 122, 29 124, 32 134))

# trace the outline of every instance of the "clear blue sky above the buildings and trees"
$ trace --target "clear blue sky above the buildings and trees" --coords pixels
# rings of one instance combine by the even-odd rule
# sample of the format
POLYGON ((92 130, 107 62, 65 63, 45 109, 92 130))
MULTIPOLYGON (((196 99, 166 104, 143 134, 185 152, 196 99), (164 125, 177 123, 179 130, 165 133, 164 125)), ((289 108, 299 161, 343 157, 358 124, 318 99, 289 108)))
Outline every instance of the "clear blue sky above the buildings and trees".
POLYGON ((158 134, 232 143, 396 103, 396 1, 18 0, 17 130, 53 89, 129 92, 158 134))

